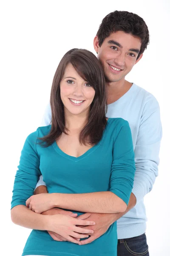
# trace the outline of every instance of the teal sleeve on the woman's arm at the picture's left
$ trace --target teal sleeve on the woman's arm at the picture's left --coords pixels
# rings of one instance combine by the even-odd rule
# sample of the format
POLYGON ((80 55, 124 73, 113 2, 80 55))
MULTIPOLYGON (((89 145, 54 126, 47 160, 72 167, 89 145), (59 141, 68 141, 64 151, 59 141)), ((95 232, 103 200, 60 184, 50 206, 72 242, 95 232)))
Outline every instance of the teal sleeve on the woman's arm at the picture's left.
POLYGON ((40 159, 37 154, 38 130, 30 134, 23 146, 20 163, 14 180, 11 208, 26 205, 26 200, 33 195, 38 178, 41 175, 40 159))

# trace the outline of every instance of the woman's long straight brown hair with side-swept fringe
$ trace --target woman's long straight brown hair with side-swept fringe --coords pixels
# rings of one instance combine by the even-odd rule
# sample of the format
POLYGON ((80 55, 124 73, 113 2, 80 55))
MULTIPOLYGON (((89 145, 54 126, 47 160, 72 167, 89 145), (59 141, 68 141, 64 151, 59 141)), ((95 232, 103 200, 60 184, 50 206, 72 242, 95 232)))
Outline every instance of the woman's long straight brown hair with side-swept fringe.
POLYGON ((68 134, 65 128, 64 105, 60 97, 60 82, 68 64, 72 64, 79 76, 87 81, 95 90, 94 100, 91 103, 88 122, 79 134, 81 144, 94 145, 102 138, 106 120, 107 93, 105 76, 99 60, 86 49, 71 49, 61 59, 54 75, 51 87, 51 130, 50 133, 40 138, 42 146, 49 146, 63 133, 68 134), (45 142, 45 143, 44 143, 45 142))

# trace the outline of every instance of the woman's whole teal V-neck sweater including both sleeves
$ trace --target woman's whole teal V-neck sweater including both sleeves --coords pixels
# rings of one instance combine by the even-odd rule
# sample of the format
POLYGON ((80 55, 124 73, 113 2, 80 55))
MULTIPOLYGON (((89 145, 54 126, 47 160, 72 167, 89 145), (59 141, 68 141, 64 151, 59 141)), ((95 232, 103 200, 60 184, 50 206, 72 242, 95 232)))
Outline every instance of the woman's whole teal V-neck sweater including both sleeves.
MULTIPOLYGON (((21 152, 15 176, 11 208, 26 205, 33 195, 40 175, 49 193, 87 193, 111 191, 128 204, 133 188, 135 162, 130 127, 121 118, 110 118, 102 139, 80 157, 72 157, 57 143, 43 148, 38 138, 49 133, 51 125, 30 134, 21 152)), ((83 212, 77 212, 78 215, 83 212)), ((54 241, 47 231, 32 230, 24 255, 116 256, 116 222, 90 244, 79 246, 68 241, 54 241)))

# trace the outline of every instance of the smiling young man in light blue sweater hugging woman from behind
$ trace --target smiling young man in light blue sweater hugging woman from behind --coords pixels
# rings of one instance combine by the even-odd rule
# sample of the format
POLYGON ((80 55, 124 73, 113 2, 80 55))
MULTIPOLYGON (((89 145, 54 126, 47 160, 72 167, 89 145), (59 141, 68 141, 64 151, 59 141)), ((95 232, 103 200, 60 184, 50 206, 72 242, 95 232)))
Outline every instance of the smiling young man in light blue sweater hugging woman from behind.
MULTIPOLYGON (((150 192, 158 175, 159 148, 161 141, 161 121, 159 104, 154 96, 125 76, 142 58, 149 43, 149 32, 144 20, 136 14, 115 11, 108 14, 94 38, 94 49, 105 72, 108 88, 108 117, 122 117, 129 122, 135 152, 136 174, 133 191, 127 210, 124 213, 97 214, 85 213, 78 218, 96 222, 94 234, 83 240, 87 244, 108 230, 117 221, 118 256, 148 256, 145 236, 146 213, 144 196, 150 192)), ((48 106, 44 125, 51 122, 51 109, 48 106)), ((35 193, 47 192, 42 177, 35 193), (42 185, 42 186, 40 186, 42 185)), ((62 209, 51 209, 44 214, 72 214, 62 209)), ((89 227, 87 227, 89 228, 89 227)), ((62 237, 51 236, 58 241, 62 237)))

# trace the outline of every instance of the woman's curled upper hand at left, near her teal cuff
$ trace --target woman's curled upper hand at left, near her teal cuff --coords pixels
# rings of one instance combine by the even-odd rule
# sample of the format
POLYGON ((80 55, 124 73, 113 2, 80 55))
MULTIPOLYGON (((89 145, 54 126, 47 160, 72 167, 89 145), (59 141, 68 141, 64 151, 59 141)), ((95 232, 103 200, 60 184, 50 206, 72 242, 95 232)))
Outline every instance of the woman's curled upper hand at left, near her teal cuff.
POLYGON ((36 213, 48 211, 49 209, 54 207, 52 204, 52 194, 49 193, 32 195, 26 201, 26 206, 36 213))

